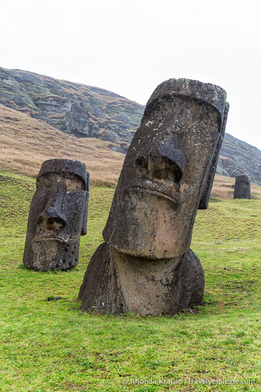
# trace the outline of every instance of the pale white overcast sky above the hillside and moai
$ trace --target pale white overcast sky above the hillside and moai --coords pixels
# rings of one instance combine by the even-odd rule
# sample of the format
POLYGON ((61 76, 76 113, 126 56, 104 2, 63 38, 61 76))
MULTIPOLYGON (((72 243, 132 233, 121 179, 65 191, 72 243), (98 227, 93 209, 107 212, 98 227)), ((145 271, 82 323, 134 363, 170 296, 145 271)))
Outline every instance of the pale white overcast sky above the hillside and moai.
POLYGON ((0 0, 0 66, 146 104, 169 78, 227 91, 227 132, 261 149, 259 0, 0 0))

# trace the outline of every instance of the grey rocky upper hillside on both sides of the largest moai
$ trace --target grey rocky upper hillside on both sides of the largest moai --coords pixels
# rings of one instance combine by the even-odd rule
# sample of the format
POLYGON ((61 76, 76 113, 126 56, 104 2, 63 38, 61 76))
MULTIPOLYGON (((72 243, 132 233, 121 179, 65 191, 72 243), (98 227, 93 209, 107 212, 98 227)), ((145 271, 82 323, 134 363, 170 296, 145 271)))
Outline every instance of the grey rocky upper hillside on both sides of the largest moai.
MULTIPOLYGON (((149 98, 149 97, 148 97, 149 98)), ((76 137, 109 141, 126 153, 145 106, 98 87, 0 67, 0 104, 76 137)), ((225 133, 217 174, 249 174, 261 185, 261 151, 225 133)))

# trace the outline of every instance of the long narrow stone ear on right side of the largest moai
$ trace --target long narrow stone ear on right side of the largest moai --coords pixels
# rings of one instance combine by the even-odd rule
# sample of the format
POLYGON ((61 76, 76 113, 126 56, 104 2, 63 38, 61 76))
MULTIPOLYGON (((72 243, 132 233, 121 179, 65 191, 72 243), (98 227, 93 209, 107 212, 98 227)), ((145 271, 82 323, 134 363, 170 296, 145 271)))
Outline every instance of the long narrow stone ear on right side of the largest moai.
POLYGON ((206 175, 206 180, 203 185, 202 197, 200 199, 198 209, 207 209, 209 207, 209 197, 211 194, 211 189, 212 189, 214 177, 216 174, 216 168, 218 165, 218 157, 219 157, 220 149, 221 149, 223 139, 224 139, 225 125, 227 123, 227 113, 228 113, 229 109, 230 109, 230 104, 228 102, 226 102, 225 111, 224 111, 224 115, 223 115, 223 123, 222 123, 221 131, 220 131, 220 137, 219 137, 218 143, 216 145, 216 150, 213 153, 213 158, 211 161, 211 165, 209 167, 209 172, 206 175))

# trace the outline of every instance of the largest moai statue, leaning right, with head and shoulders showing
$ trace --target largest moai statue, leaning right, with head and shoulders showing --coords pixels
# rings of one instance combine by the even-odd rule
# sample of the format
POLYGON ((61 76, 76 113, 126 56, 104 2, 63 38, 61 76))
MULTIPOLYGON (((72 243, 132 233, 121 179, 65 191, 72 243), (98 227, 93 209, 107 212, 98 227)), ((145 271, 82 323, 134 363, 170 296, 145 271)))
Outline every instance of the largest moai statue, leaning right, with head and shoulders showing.
POLYGON ((82 310, 175 314, 201 304, 204 270, 190 250, 206 208, 228 111, 225 91, 171 79, 146 105, 78 300, 82 310))

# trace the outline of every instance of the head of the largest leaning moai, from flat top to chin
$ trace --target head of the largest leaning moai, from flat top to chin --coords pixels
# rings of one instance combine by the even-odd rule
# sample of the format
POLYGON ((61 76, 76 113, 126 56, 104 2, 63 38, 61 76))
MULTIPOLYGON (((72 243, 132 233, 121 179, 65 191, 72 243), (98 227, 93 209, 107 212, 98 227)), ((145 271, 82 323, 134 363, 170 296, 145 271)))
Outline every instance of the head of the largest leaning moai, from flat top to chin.
POLYGON ((203 190, 209 197, 213 183, 225 99, 222 88, 197 80, 171 79, 156 88, 115 190, 103 233, 110 246, 153 260, 188 250, 203 190))

